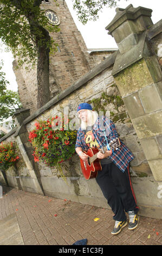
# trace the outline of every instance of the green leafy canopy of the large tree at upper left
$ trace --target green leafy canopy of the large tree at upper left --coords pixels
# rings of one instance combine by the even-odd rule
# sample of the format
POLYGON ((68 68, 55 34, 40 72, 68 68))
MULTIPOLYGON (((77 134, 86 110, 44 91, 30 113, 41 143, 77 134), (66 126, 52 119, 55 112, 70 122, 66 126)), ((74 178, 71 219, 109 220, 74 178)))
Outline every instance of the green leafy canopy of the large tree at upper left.
POLYGON ((49 25, 41 0, 0 0, 0 38, 18 57, 18 65, 36 64, 38 47, 56 51, 48 32, 57 32, 49 25))

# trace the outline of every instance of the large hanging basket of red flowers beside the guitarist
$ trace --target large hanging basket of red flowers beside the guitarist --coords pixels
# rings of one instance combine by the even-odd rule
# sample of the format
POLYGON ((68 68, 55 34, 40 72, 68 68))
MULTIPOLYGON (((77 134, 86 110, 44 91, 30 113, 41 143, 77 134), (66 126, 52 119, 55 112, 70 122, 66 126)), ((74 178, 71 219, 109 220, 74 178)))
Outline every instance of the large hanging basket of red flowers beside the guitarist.
POLYGON ((50 118, 37 121, 29 132, 29 141, 34 148, 34 161, 42 161, 50 167, 57 166, 75 154, 76 133, 70 130, 68 118, 50 118))

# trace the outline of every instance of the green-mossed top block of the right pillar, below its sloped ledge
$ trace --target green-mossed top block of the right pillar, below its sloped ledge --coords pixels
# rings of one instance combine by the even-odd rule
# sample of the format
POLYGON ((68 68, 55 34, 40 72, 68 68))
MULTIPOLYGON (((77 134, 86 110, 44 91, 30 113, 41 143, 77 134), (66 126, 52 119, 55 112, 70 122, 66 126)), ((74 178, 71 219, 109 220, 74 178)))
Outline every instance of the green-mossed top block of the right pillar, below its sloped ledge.
POLYGON ((114 76, 122 97, 137 92, 153 83, 152 76, 144 59, 132 64, 114 76))

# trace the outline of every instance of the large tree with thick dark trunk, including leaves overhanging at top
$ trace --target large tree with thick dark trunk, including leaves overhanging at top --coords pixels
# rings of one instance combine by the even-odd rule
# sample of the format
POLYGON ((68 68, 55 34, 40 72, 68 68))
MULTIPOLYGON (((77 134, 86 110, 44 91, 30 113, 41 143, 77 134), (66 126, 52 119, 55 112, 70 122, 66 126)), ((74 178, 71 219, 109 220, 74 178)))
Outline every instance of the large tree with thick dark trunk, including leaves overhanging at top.
MULTIPOLYGON (((53 1, 57 5, 57 0, 53 1)), ((80 21, 85 24, 88 17, 96 19, 105 5, 114 7, 117 0, 72 1, 80 21)), ((57 44, 49 32, 60 30, 49 25, 41 3, 42 0, 0 0, 0 38, 18 57, 20 66, 37 63, 37 108, 50 100, 49 52, 56 51, 57 44)))

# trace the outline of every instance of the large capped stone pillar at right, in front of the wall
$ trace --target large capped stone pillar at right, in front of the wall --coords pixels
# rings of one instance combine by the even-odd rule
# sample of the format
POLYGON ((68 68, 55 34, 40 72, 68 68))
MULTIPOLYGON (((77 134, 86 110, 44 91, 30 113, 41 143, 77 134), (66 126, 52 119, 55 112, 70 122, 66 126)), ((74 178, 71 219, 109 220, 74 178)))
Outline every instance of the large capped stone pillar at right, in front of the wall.
POLYGON ((151 9, 117 8, 106 27, 119 50, 112 70, 154 179, 162 181, 162 74, 147 38, 151 9))

